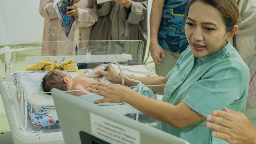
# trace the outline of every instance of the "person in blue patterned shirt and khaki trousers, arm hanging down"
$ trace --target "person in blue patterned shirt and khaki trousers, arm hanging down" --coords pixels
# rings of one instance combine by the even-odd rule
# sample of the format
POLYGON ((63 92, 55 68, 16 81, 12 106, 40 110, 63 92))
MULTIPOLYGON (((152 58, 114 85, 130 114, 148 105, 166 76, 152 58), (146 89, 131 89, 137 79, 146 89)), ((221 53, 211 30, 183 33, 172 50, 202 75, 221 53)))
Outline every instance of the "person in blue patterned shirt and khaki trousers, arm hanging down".
POLYGON ((188 46, 184 30, 187 2, 188 0, 153 0, 150 52, 158 76, 166 76, 188 46))

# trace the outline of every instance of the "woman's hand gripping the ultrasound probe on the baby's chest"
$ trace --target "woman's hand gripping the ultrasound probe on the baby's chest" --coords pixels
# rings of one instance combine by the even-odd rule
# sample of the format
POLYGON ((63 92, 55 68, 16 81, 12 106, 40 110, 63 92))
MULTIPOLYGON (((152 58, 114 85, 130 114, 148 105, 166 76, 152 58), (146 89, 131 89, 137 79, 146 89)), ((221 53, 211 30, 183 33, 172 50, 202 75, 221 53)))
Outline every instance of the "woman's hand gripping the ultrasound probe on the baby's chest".
MULTIPOLYGON (((104 66, 104 65, 105 64, 101 64, 101 65, 97 66, 96 68, 98 68, 100 66, 104 66)), ((94 68, 94 69, 96 69, 96 68, 94 68)), ((119 81, 121 80, 119 77, 120 75, 116 72, 116 70, 112 66, 109 66, 105 71, 100 71, 100 70, 96 71, 95 74, 99 75, 100 77, 106 76, 106 78, 113 83, 120 83, 119 81)))

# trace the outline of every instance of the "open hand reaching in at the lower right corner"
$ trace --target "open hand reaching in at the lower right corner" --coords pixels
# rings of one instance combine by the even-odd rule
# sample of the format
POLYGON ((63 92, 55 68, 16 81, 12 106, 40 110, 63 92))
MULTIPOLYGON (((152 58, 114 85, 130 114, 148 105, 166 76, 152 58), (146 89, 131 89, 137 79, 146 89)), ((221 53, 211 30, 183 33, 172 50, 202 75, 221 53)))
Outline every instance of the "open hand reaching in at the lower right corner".
POLYGON ((240 112, 224 108, 224 111, 214 110, 212 115, 206 116, 206 127, 217 132, 212 136, 229 143, 256 143, 256 130, 249 119, 240 112))

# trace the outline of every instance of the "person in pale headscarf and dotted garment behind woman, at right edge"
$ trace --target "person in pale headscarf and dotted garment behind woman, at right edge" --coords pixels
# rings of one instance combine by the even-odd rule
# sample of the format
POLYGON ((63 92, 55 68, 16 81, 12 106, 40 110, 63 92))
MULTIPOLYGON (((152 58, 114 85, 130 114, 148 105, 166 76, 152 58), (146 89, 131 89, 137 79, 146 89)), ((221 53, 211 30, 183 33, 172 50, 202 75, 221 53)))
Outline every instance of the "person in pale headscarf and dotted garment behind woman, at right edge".
POLYGON ((241 14, 233 45, 250 70, 249 93, 244 114, 256 128, 256 1, 236 1, 241 14))

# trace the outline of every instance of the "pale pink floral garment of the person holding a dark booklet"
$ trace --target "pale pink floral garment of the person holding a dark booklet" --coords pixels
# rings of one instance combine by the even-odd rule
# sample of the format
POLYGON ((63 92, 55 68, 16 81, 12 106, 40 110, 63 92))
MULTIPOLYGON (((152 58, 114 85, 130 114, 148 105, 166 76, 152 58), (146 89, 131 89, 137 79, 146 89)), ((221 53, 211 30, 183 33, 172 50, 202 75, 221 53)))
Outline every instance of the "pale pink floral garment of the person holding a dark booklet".
MULTIPOLYGON (((39 12, 44 17, 43 41, 72 41, 76 26, 79 27, 78 40, 89 40, 92 26, 98 21, 98 16, 92 11, 92 8, 95 8, 95 0, 80 0, 77 3, 78 18, 73 23, 68 37, 61 27, 52 4, 53 0, 40 0, 39 12)), ((87 52, 86 46, 87 43, 79 43, 78 54, 87 52)), ((41 55, 75 55, 75 47, 74 42, 43 42, 41 55)))

